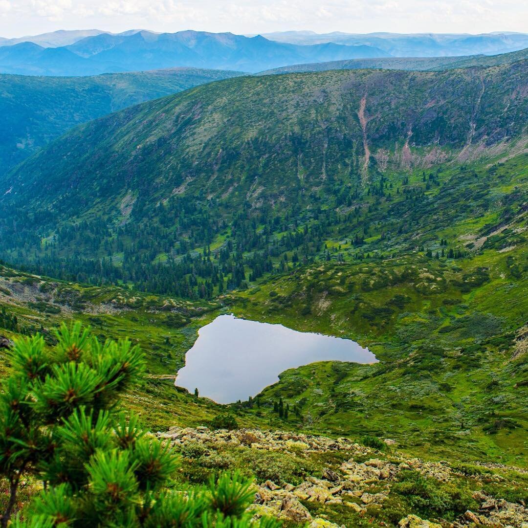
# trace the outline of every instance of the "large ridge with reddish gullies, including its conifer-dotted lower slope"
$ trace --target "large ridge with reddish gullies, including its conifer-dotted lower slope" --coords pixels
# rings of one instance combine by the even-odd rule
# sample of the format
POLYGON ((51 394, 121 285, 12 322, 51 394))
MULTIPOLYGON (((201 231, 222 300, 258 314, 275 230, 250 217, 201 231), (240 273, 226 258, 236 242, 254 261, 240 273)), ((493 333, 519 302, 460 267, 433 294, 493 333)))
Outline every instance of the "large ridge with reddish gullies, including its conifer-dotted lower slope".
POLYGON ((364 218, 345 217, 361 245, 383 197, 398 219, 422 192, 394 194, 409 175, 437 182, 442 167, 525 152, 526 68, 242 77, 128 108, 1 178, 0 255, 48 275, 209 297, 271 271, 292 222, 318 226, 309 244, 286 237, 308 259, 341 208, 359 215, 367 203, 364 218))

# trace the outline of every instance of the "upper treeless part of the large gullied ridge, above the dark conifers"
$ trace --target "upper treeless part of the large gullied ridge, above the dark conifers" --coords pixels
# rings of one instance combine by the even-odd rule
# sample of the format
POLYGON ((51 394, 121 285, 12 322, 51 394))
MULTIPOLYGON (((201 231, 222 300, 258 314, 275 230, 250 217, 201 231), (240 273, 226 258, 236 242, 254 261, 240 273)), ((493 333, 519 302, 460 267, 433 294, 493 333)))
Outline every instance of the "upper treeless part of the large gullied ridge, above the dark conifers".
POLYGON ((376 161, 375 170, 390 171, 467 158, 526 132, 527 67, 329 71, 208 84, 77 128, 5 177, 2 191, 11 192, 2 202, 27 204, 31 192, 40 207, 55 203, 68 214, 78 195, 110 206, 145 187, 143 200, 157 201, 183 183, 187 192, 207 185, 212 196, 235 185, 239 200, 263 185, 258 201, 271 202, 292 184, 317 186, 328 173, 368 181, 376 161))

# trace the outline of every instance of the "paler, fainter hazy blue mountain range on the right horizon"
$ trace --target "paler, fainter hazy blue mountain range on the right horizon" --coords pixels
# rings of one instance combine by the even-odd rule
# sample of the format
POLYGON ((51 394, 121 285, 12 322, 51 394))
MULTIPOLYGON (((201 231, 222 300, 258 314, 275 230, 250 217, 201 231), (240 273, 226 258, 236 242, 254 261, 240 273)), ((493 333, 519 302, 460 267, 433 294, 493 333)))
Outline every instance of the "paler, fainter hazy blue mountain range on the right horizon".
POLYGON ((286 31, 265 33, 267 39, 292 44, 333 42, 346 45, 374 46, 394 57, 439 57, 454 55, 487 55, 528 48, 527 33, 495 32, 479 35, 448 33, 324 33, 286 31))

